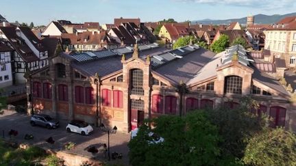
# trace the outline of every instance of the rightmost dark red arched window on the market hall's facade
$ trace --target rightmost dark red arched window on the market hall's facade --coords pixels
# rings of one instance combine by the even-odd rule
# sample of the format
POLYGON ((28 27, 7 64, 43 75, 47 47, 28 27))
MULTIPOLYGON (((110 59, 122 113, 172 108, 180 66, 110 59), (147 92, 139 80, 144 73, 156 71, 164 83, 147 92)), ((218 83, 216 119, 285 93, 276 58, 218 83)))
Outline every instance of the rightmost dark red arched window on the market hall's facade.
POLYGON ((285 121, 286 121, 286 109, 283 107, 271 107, 270 117, 273 118, 273 122, 271 122, 271 127, 275 126, 284 126, 285 121))

